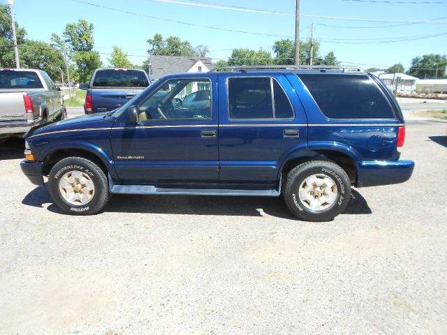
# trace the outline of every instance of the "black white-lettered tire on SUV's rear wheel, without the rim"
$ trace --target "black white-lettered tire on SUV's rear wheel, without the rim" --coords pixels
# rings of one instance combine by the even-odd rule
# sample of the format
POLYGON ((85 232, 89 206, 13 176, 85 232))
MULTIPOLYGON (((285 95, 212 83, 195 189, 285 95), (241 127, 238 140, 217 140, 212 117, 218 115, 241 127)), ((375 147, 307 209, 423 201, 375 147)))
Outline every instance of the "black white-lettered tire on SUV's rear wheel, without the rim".
POLYGON ((307 161, 288 172, 283 184, 283 195, 288 209, 298 218, 304 218, 308 221, 330 221, 346 209, 351 199, 351 182, 346 172, 335 163, 329 161, 307 161), (309 202, 301 200, 299 194, 302 183, 314 174, 329 177, 337 186, 335 202, 331 205, 326 204, 328 207, 320 210, 310 209, 309 202))

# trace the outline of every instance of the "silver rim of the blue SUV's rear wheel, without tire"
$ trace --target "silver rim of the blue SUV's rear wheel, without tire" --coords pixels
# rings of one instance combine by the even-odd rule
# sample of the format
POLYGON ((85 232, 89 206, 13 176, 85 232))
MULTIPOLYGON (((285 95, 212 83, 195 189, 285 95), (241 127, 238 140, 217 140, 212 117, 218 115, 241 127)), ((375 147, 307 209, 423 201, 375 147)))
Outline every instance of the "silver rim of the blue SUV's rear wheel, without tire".
POLYGON ((334 180, 325 174, 312 174, 302 181, 299 197, 302 204, 312 211, 323 211, 337 201, 338 189, 334 180))

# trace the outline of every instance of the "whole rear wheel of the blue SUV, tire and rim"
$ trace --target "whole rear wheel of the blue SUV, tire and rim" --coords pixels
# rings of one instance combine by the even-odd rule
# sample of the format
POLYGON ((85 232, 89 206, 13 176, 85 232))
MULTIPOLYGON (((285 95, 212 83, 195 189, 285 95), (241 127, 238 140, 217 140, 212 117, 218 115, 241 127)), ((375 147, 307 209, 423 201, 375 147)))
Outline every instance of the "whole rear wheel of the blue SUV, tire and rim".
POLYGON ((339 165, 308 161, 288 172, 283 193, 288 209, 299 218, 330 221, 348 205, 351 183, 339 165))

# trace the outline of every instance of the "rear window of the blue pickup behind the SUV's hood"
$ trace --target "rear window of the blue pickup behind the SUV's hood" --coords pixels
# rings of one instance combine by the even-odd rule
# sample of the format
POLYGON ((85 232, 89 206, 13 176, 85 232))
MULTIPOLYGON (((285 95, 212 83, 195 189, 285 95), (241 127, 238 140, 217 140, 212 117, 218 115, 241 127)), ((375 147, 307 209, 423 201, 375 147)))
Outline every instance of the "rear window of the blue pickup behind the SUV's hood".
POLYGON ((149 82, 143 71, 138 70, 98 70, 93 87, 147 87, 149 82))

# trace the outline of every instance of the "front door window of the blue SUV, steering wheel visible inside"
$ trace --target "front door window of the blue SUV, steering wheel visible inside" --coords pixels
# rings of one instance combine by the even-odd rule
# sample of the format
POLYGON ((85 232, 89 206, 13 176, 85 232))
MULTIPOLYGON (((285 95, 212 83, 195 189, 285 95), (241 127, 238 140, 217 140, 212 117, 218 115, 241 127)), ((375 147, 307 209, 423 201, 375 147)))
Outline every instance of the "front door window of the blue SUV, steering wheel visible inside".
POLYGON ((176 79, 164 82, 138 106, 139 121, 211 119, 211 82, 176 79), (203 89, 203 88, 208 89, 203 89))

